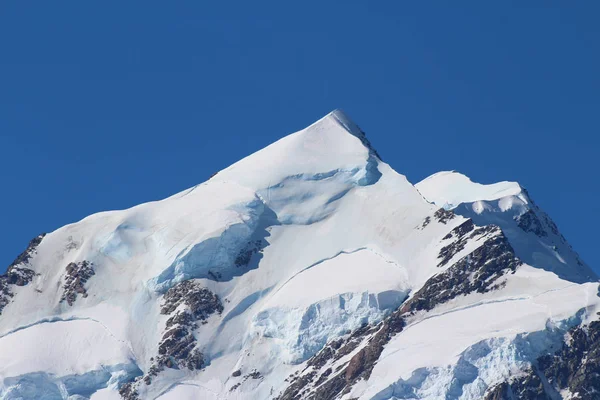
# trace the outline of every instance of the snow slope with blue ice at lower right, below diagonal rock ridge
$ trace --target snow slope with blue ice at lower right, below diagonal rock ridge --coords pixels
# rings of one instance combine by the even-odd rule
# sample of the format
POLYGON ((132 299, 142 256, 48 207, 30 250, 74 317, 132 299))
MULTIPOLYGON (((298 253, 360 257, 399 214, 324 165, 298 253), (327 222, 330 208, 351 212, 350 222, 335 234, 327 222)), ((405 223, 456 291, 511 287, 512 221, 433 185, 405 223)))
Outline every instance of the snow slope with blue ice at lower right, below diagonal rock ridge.
MULTIPOLYGON (((587 309, 587 313, 593 315, 600 305, 597 284, 539 291, 535 280, 528 280, 528 283, 533 294, 523 296, 520 292, 519 296, 495 299, 488 296, 483 302, 467 306, 460 305, 469 303, 464 298, 447 311, 436 310, 433 315, 409 324, 386 346, 375 366, 369 388, 360 398, 411 398, 396 392, 406 392, 407 386, 411 386, 411 391, 422 392, 417 398, 442 398, 456 377, 457 367, 453 366, 470 357, 477 372, 471 382, 464 382, 465 392, 460 398, 480 399, 487 387, 517 371, 519 362, 530 363, 552 343, 558 343, 570 326, 580 322, 575 317, 578 311, 587 309), (589 309, 590 306, 593 308, 589 309), (542 334, 527 335, 532 332, 542 334), (484 354, 478 354, 482 347, 488 349, 484 354), (418 379, 417 372, 420 374, 418 379), (441 379, 441 375, 447 379, 441 379), (475 378, 478 378, 477 382, 475 378)), ((355 395, 357 393, 353 392, 352 396, 355 395)))

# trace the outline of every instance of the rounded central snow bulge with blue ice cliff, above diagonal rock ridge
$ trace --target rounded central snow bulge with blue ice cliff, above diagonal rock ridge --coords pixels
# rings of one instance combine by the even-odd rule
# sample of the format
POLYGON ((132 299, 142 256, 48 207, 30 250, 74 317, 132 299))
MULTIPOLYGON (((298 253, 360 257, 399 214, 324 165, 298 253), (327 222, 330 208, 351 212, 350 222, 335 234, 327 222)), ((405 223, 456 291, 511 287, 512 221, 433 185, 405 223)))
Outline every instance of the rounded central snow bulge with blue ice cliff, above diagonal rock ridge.
POLYGON ((380 321, 408 290, 395 263, 369 249, 342 252, 307 267, 270 295, 250 335, 277 339, 282 359, 297 364, 329 340, 380 321))

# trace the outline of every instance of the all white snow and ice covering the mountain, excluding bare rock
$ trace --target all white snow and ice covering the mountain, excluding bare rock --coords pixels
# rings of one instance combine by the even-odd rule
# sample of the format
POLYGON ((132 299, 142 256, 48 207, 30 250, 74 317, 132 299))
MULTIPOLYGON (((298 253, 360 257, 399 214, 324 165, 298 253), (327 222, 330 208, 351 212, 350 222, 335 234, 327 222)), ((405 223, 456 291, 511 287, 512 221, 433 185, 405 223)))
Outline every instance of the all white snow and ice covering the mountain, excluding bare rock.
POLYGON ((120 398, 157 355, 163 294, 191 278, 224 307, 194 331, 208 365, 167 369, 141 398, 272 398, 327 342, 381 321, 481 246, 438 266, 467 218, 499 225, 525 264, 502 290, 415 315, 348 396, 481 398, 591 318, 597 283, 518 184, 442 172, 413 186, 339 110, 191 189, 47 235, 29 265, 38 275, 0 318, 0 398, 120 398), (440 207, 456 216, 437 221, 440 207), (530 210, 547 236, 518 226, 530 210), (83 260, 95 271, 88 297, 61 303, 66 266, 83 260), (260 379, 247 378, 254 370, 260 379))

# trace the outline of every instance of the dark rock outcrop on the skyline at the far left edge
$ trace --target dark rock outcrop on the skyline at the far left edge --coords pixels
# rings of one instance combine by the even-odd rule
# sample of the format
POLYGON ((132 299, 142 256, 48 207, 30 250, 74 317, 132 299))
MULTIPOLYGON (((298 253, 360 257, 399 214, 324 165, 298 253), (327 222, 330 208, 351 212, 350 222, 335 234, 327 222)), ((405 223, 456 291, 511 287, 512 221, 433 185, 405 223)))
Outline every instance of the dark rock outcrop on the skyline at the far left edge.
POLYGON ((6 273, 0 275, 0 314, 15 296, 13 287, 28 285, 35 277, 35 271, 27 267, 45 235, 33 238, 25 251, 8 266, 6 273))

